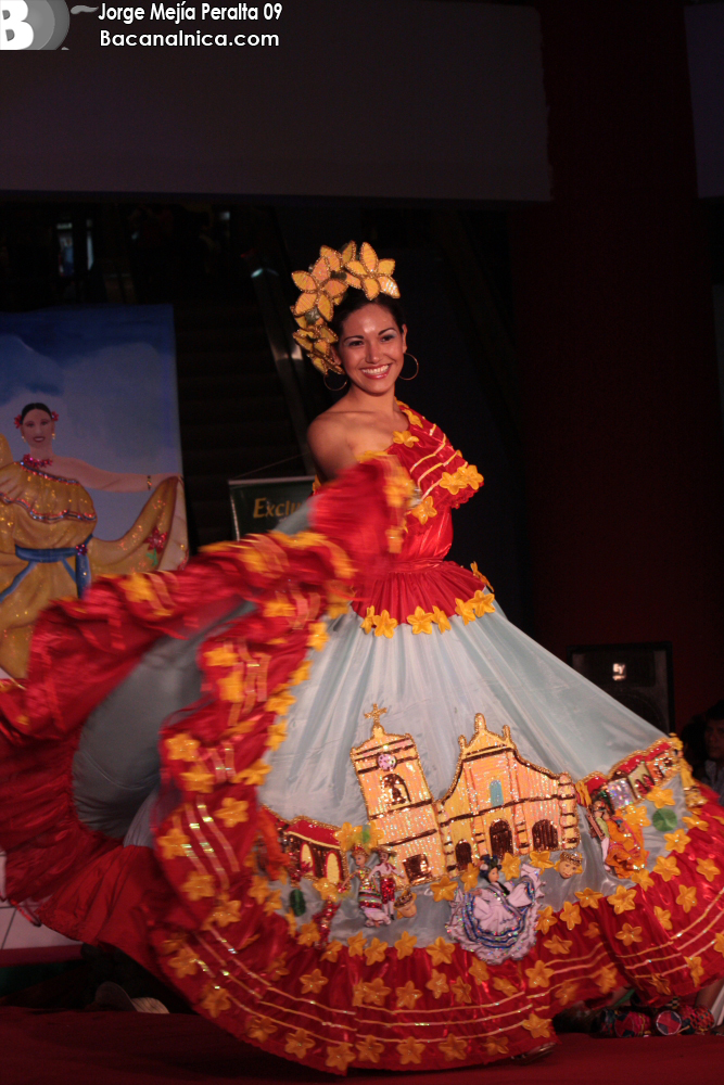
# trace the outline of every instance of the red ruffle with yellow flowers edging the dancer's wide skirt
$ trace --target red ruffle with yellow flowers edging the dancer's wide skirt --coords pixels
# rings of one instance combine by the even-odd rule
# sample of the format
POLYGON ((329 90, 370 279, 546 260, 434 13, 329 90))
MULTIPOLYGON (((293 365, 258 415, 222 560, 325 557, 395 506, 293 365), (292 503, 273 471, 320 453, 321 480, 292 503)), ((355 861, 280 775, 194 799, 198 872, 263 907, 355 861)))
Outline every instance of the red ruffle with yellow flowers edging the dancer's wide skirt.
POLYGON ((392 458, 370 461, 319 494, 312 532, 213 547, 183 573, 103 580, 84 601, 55 604, 38 624, 27 682, 0 692, 11 897, 45 898, 49 926, 118 946, 234 1035, 336 1073, 490 1062, 552 1038, 552 1014, 573 1000, 633 983, 663 1001, 724 974, 723 819, 712 803, 691 814, 681 854, 636 886, 544 909, 520 961, 487 966, 444 939, 417 946, 412 934, 323 945, 314 921, 297 929, 280 914, 270 881, 285 857, 256 801, 264 753, 284 740, 309 649, 323 650, 319 618, 344 607, 370 562, 390 579, 405 489, 392 458), (200 651, 205 700, 162 731, 164 778, 181 800, 155 852, 90 832, 72 793, 86 716, 155 639, 243 598, 256 611, 200 651))

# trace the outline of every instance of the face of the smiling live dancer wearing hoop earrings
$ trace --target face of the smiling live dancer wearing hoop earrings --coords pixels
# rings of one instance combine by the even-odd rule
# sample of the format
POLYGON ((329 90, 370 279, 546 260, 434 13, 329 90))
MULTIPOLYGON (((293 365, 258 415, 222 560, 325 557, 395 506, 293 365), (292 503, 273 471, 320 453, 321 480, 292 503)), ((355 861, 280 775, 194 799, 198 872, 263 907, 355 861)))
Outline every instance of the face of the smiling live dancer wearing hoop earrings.
POLYGON ((394 387, 406 349, 407 328, 401 331, 385 306, 370 303, 346 318, 334 354, 352 384, 379 396, 394 387))

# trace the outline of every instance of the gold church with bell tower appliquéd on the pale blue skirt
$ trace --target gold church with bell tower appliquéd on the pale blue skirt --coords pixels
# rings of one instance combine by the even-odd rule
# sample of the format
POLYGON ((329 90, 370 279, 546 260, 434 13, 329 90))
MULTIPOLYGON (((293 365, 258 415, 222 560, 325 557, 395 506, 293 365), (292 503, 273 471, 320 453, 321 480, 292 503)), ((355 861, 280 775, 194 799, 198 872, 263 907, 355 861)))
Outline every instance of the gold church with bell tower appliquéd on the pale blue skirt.
POLYGON ((474 733, 460 736, 460 756, 443 799, 430 793, 410 735, 385 731, 377 704, 365 713, 372 736, 351 751, 376 839, 396 853, 410 884, 465 870, 480 856, 569 851, 580 843, 576 792, 567 773, 525 761, 510 737, 488 731, 482 713, 474 733))

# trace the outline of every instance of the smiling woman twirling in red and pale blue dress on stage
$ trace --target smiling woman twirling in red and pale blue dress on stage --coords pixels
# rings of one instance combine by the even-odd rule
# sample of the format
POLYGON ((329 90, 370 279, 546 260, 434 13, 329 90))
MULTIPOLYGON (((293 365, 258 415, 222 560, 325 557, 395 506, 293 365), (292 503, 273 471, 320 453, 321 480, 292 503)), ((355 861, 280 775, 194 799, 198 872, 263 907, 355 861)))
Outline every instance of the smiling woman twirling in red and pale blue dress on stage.
POLYGON ((9 892, 338 1073, 524 1054, 571 1003, 624 984, 665 1003, 724 974, 724 839, 677 742, 444 561, 482 476, 395 399, 393 270, 350 245, 294 277, 299 341, 350 382, 310 430, 310 502, 180 575, 56 604, 33 689, 0 692, 9 892), (604 861, 599 800, 643 834, 630 871, 604 861), (373 935, 360 845, 394 854, 373 935), (486 855, 510 937, 482 898, 460 916, 486 855))

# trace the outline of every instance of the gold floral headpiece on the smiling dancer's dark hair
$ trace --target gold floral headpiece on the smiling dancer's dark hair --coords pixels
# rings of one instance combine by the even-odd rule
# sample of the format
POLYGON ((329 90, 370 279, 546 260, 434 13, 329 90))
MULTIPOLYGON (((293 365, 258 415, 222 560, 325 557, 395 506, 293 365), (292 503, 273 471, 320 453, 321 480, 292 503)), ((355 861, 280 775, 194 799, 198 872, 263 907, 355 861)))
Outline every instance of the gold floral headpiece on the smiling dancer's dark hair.
POLYGON ((341 253, 328 245, 319 250, 319 259, 308 271, 295 271, 294 284, 302 291, 292 306, 292 314, 300 326, 294 339, 306 350, 320 373, 331 369, 342 372, 334 360, 332 343, 336 335, 329 327, 339 305, 350 286, 365 292, 365 297, 373 302, 380 294, 399 297, 399 288, 392 278, 394 260, 378 259, 378 255, 367 242, 357 254, 357 245, 348 242, 341 253))

